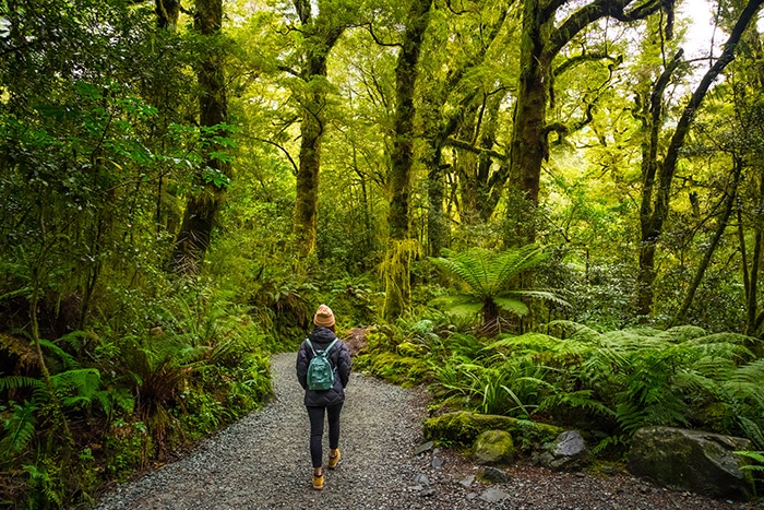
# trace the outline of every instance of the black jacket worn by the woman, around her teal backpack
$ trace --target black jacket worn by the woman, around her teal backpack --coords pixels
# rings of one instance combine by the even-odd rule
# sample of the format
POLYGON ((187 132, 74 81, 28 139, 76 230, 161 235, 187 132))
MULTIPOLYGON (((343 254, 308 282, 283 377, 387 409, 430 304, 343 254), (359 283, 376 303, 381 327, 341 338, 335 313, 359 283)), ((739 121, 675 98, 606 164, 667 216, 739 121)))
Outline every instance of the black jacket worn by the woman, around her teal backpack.
MULTIPOLYGON (((308 335, 315 351, 325 349, 337 336, 329 328, 315 328, 308 335)), ((345 402, 345 387, 350 379, 350 352, 342 340, 338 340, 329 352, 329 360, 334 367, 334 387, 330 390, 314 391, 308 389, 308 365, 313 358, 313 352, 303 341, 297 353, 297 380, 306 391, 305 404, 308 407, 336 405, 345 402)))

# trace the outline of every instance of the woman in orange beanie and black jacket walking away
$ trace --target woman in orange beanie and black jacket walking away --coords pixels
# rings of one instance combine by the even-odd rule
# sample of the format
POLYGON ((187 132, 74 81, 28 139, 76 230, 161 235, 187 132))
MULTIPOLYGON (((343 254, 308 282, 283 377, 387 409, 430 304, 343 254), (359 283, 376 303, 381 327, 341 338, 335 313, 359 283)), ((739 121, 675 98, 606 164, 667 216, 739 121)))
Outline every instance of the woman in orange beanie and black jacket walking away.
POLYGON ((305 404, 310 418, 310 456, 313 462, 313 488, 324 488, 322 470, 323 453, 321 442, 324 435, 324 414, 329 416, 329 462, 333 470, 339 463, 339 413, 345 402, 345 387, 350 378, 350 353, 345 342, 334 333, 334 313, 326 305, 321 305, 313 317, 313 332, 302 342, 297 353, 297 380, 306 391, 305 404), (326 353, 334 371, 334 383, 327 390, 311 390, 308 368, 311 359, 321 352, 326 353), (318 354, 317 354, 318 353, 318 354))

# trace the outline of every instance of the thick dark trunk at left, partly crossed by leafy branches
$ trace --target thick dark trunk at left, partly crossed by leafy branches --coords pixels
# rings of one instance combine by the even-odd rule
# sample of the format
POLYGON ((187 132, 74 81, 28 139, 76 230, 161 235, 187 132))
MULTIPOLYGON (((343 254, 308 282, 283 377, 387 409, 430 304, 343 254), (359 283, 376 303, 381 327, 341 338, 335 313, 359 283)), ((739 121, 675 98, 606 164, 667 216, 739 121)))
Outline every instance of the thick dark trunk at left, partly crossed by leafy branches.
MULTIPOLYGON (((196 0, 194 29, 214 40, 223 24, 223 0, 196 0)), ((224 124, 228 118, 224 59, 216 48, 207 48, 196 70, 201 90, 199 98, 199 124, 202 130, 204 168, 199 181, 202 190, 189 199, 183 221, 172 253, 172 266, 179 272, 195 272, 210 247, 210 236, 223 203, 226 181, 230 177, 230 164, 211 156, 223 147, 217 137, 228 137, 224 124), (216 129, 216 127, 219 127, 216 129)))

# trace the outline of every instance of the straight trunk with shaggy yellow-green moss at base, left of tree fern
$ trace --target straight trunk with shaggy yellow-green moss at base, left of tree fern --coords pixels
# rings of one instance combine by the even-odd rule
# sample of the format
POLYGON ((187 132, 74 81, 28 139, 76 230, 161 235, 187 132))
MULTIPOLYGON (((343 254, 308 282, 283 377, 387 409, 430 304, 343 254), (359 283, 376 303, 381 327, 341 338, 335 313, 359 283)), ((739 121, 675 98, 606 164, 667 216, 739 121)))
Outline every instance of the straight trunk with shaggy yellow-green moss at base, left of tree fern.
POLYGON ((408 212, 414 163, 414 116, 416 114, 414 93, 419 54, 430 22, 431 7, 432 0, 413 0, 395 67, 395 133, 389 176, 390 239, 383 265, 385 319, 399 317, 410 303, 409 264, 416 244, 409 238, 408 212))

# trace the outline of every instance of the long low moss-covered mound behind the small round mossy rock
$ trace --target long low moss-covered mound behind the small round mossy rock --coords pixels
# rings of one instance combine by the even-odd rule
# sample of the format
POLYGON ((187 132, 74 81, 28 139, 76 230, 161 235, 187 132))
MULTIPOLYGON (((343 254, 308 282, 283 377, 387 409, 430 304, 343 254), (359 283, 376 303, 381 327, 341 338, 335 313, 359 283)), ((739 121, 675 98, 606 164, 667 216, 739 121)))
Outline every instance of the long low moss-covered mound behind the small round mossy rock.
POLYGON ((467 411, 428 418, 423 429, 428 439, 447 440, 467 447, 487 430, 504 430, 510 432, 515 444, 522 450, 530 450, 535 446, 552 441, 563 431, 560 427, 528 419, 467 411))

